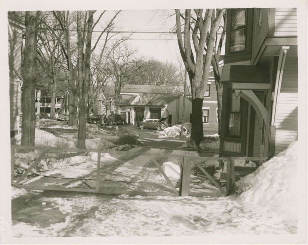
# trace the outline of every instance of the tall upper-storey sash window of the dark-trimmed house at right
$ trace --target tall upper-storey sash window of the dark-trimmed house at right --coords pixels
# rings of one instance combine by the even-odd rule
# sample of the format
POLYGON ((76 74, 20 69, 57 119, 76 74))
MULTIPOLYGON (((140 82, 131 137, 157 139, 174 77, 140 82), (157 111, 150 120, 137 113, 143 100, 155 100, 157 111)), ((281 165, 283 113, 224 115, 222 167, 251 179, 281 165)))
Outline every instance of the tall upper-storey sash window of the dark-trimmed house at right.
POLYGON ((245 51, 247 30, 246 9, 233 9, 231 22, 230 53, 245 51))

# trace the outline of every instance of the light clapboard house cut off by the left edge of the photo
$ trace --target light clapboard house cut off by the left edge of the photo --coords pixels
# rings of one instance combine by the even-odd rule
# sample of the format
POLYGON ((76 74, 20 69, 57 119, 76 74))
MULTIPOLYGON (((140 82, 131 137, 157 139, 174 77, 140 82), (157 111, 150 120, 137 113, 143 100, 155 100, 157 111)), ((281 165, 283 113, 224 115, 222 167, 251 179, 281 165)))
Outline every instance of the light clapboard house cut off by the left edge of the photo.
POLYGON ((20 76, 22 30, 24 21, 18 12, 8 12, 8 51, 10 83, 10 132, 11 137, 18 133, 20 122, 20 100, 22 77, 20 76))

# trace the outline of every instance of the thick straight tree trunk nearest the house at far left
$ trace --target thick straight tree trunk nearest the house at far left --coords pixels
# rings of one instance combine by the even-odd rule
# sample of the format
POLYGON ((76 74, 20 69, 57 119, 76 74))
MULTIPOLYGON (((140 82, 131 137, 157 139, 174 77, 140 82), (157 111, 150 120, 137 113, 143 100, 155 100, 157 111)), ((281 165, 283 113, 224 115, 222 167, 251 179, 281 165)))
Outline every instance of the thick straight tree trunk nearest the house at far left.
POLYGON ((26 38, 24 55, 24 79, 22 90, 22 146, 34 146, 35 139, 35 80, 36 37, 39 12, 27 11, 25 18, 26 38))

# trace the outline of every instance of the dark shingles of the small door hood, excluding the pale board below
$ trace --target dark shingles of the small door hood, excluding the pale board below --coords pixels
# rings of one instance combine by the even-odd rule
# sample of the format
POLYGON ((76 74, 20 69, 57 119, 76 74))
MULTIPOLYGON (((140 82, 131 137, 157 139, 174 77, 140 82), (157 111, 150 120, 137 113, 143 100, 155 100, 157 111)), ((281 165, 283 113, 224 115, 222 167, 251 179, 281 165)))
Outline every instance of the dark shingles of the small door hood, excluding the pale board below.
POLYGON ((231 65, 230 82, 269 84, 270 74, 266 69, 255 65, 231 65))

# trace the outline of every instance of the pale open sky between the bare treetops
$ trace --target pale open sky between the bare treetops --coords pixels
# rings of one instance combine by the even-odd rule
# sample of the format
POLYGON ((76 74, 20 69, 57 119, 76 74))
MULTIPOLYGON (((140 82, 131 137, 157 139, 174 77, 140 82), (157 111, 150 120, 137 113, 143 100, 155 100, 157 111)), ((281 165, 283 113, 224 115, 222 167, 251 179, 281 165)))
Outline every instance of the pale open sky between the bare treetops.
MULTIPOLYGON (((101 11, 97 11, 94 19, 99 17, 101 11)), ((170 31, 175 30, 175 11, 169 10, 123 10, 114 21, 114 29, 121 31, 170 31), (168 17, 168 14, 172 16, 168 17)), ((113 16, 109 10, 104 14, 103 20, 95 27, 102 29, 108 19, 113 16)), ((97 34, 98 35, 98 34, 97 34)), ((129 35, 129 34, 121 34, 129 35)), ((120 35, 118 35, 120 37, 120 35)), ((103 39, 103 38, 102 38, 103 39)), ((131 40, 127 41, 132 49, 137 49, 140 56, 153 58, 162 62, 168 61, 179 65, 180 52, 176 34, 161 33, 134 33, 131 40)), ((224 52, 224 50, 223 50, 224 52)))

